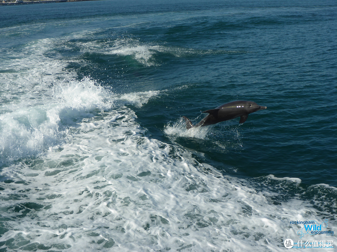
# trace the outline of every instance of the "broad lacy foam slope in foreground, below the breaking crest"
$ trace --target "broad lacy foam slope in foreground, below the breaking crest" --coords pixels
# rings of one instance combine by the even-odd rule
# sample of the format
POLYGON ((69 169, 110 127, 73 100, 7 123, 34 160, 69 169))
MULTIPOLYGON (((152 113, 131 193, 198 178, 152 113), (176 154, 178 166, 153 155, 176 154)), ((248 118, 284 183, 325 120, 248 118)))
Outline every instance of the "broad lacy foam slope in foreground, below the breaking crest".
POLYGON ((320 221, 300 200, 269 204, 268 192, 145 137, 135 117, 124 107, 84 118, 59 149, 4 168, 7 178, 26 183, 2 191, 9 199, 2 217, 12 227, 2 239, 27 243, 22 250, 283 251, 283 240, 297 237, 289 221, 320 221))

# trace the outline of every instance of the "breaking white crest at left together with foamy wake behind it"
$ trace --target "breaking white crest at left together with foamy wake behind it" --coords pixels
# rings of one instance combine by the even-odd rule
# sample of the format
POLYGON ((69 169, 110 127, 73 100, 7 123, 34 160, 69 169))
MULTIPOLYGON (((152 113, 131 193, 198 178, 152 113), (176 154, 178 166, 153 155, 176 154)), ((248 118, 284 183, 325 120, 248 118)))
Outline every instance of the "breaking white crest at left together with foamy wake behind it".
POLYGON ((7 51, 0 61, 0 163, 38 155, 61 142, 68 127, 118 106, 141 107, 158 91, 115 95, 95 81, 75 80, 66 60, 45 55, 55 39, 7 51))

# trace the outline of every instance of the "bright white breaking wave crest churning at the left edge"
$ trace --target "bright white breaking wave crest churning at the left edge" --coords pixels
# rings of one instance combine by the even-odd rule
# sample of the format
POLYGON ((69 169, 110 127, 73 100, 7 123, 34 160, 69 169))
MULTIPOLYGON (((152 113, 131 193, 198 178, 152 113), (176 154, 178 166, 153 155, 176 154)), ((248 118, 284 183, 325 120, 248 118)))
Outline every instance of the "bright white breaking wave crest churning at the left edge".
POLYGON ((1 162, 36 155, 59 143, 64 127, 113 106, 108 93, 89 79, 58 84, 52 97, 49 104, 0 115, 1 162))

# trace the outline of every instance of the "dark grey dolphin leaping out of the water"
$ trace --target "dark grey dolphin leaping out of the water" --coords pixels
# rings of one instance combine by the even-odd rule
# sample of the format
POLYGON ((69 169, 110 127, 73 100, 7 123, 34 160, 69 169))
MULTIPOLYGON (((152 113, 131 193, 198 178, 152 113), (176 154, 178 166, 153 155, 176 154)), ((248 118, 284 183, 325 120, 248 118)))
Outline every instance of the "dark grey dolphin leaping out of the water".
POLYGON ((253 101, 237 100, 222 104, 215 109, 204 111, 203 113, 209 113, 209 115, 204 117, 204 119, 196 125, 193 125, 191 120, 189 120, 186 116, 183 116, 183 118, 186 122, 186 128, 190 129, 195 126, 207 126, 237 117, 240 117, 239 123, 244 123, 247 120, 248 114, 264 109, 267 109, 267 107, 259 106, 253 101))

